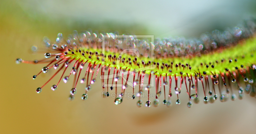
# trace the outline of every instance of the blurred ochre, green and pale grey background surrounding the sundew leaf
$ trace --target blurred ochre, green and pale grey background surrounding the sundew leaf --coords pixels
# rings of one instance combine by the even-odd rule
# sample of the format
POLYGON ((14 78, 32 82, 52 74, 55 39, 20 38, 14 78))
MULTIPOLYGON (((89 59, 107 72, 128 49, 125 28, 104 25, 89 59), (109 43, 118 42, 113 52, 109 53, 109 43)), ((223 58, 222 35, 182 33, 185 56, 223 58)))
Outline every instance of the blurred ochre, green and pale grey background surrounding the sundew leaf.
MULTIPOLYGON (((92 85, 88 99, 80 99, 85 85, 78 84, 73 101, 68 100, 71 83, 56 84, 60 74, 37 94, 54 72, 37 74, 44 65, 15 64, 16 58, 41 59, 44 36, 55 40, 73 30, 117 30, 155 37, 199 37, 214 29, 234 27, 256 15, 255 0, 181 1, 85 1, 85 0, 1 0, 1 133, 255 133, 255 98, 214 104, 194 104, 187 108, 185 92, 181 104, 161 104, 155 108, 136 106, 137 100, 101 98, 101 86, 92 85), (38 52, 33 53, 31 46, 38 52), (80 90, 81 89, 81 90, 80 90)), ((97 79, 96 81, 100 81, 97 79)), ((184 86, 183 86, 184 87, 184 86)), ((182 89, 183 90, 183 89, 182 89)), ((150 99, 153 101, 154 99, 150 99)), ((146 100, 143 100, 144 104, 146 100)))

